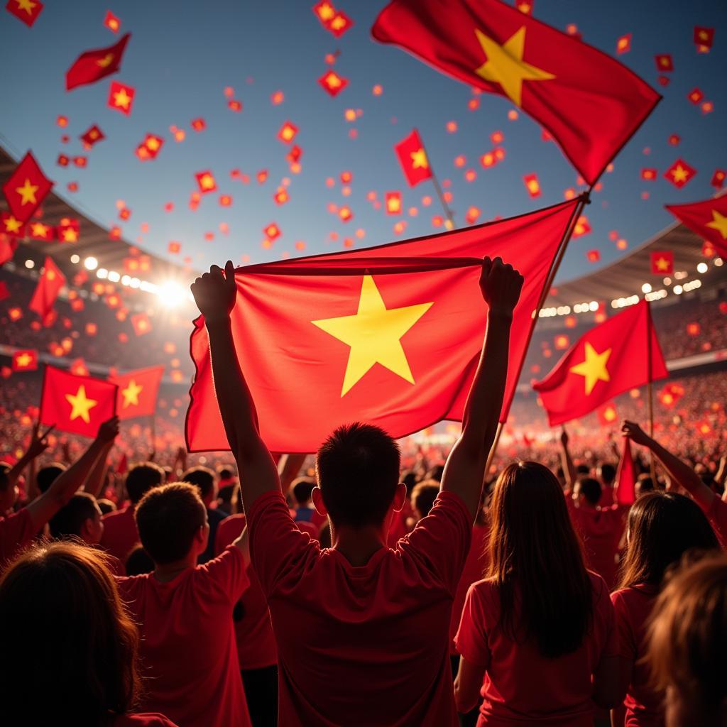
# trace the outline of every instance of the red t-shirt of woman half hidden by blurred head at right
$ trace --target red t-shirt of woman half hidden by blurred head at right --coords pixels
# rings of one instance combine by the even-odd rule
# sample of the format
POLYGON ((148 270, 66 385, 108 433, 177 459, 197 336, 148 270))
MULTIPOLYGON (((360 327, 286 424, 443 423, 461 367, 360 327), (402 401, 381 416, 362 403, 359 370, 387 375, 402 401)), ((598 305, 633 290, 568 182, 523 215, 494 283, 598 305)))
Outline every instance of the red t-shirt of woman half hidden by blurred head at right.
POLYGON ((626 727, 664 727, 664 696, 648 686, 650 672, 643 663, 646 622, 659 589, 640 583, 611 593, 619 632, 619 656, 633 665, 629 691, 624 699, 626 727))

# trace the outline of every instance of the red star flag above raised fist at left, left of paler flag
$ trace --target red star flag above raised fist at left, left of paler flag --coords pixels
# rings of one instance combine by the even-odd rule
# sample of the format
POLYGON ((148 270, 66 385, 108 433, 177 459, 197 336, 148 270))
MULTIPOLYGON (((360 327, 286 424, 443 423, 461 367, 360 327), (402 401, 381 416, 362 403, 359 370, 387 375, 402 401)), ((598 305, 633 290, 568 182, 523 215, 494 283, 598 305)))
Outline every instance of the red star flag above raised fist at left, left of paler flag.
POLYGON ((116 414, 116 384, 76 376, 46 366, 40 422, 71 434, 95 437, 98 427, 116 414))

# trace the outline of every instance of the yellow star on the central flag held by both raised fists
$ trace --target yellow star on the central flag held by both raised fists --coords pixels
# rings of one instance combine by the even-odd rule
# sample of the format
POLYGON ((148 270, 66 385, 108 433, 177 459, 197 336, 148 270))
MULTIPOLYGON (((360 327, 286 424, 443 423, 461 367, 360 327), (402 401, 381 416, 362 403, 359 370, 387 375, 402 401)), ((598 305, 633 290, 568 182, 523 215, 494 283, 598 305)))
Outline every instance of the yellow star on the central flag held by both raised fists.
POLYGON ((350 346, 341 396, 348 393, 374 364, 385 366, 413 384, 414 377, 401 345, 401 337, 432 305, 429 302, 404 308, 386 308, 374 278, 367 275, 361 284, 361 297, 355 316, 310 321, 350 346))

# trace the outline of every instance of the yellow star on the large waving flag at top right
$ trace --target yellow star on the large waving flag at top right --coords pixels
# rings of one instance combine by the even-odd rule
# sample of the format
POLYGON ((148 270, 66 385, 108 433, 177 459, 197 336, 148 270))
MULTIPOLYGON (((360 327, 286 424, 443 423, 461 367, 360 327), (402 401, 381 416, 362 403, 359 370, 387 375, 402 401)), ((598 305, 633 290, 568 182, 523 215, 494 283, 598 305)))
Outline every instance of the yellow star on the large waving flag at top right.
POLYGON ((491 81, 502 87, 505 95, 515 104, 521 105, 523 81, 549 81, 554 79, 553 73, 536 68, 523 60, 525 50, 525 26, 516 31, 504 44, 486 36, 475 28, 487 63, 475 68, 475 73, 485 81, 491 81))

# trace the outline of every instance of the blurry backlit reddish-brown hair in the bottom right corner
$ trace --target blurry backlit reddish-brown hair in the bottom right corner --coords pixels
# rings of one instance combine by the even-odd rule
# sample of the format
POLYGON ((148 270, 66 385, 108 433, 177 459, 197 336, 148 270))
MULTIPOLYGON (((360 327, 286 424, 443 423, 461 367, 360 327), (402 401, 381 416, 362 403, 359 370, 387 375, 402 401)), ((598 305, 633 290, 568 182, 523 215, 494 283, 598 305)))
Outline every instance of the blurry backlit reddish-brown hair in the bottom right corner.
POLYGON ((671 687, 704 716, 718 714, 727 698, 727 555, 677 571, 652 613, 646 661, 654 688, 671 687))

